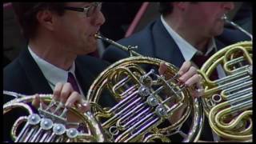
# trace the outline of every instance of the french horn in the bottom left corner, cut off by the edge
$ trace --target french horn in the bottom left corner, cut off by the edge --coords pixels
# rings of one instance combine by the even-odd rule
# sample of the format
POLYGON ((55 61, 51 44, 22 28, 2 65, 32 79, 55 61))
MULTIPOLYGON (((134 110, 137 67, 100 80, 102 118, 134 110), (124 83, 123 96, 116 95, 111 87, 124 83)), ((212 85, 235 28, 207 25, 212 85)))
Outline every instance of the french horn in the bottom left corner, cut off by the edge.
POLYGON ((60 102, 52 101, 52 94, 39 94, 42 103, 34 109, 31 102, 35 95, 24 95, 3 91, 6 96, 15 97, 3 105, 3 116, 14 110, 25 110, 10 130, 14 142, 105 142, 102 128, 90 112, 81 114, 74 107, 69 110, 80 122, 70 122, 66 118, 68 110, 60 102), (38 112, 37 112, 38 111, 38 112))

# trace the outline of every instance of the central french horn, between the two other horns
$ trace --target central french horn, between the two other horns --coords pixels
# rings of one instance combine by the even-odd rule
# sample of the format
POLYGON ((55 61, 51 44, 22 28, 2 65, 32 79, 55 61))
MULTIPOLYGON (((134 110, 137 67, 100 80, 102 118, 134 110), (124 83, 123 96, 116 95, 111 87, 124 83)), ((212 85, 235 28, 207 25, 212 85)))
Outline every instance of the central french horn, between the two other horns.
POLYGON ((87 94, 91 112, 108 141, 170 142, 170 136, 178 134, 182 142, 197 142, 204 118, 202 103, 200 98, 191 97, 193 88, 178 85, 178 68, 166 63, 170 78, 165 78, 155 72, 162 60, 144 57, 132 50, 134 47, 122 46, 100 34, 95 37, 131 55, 107 67, 87 94), (114 104, 103 106, 102 97, 112 98, 114 104), (174 114, 180 114, 175 121, 174 114), (188 119, 191 125, 182 130, 188 119))

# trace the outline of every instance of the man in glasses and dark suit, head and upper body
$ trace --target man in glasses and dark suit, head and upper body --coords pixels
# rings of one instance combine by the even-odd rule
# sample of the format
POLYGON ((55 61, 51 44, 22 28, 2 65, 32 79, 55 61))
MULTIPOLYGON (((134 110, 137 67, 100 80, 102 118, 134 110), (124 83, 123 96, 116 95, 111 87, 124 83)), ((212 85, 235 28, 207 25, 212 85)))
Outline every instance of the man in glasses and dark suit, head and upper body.
POLYGON ((105 22, 100 5, 14 2, 22 34, 29 41, 19 57, 5 67, 4 90, 22 94, 52 93, 54 85, 66 82, 70 72, 78 81, 78 92, 86 94, 82 88, 88 88, 91 79, 107 66, 97 58, 82 56, 96 50, 94 34, 105 22), (82 13, 68 9, 84 6, 94 11, 82 13))

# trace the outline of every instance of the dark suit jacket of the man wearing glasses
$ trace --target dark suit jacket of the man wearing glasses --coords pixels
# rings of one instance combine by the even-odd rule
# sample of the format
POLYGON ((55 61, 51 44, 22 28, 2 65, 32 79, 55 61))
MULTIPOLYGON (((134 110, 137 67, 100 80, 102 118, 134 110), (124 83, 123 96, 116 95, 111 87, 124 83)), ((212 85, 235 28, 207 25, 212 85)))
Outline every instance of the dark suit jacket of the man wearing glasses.
MULTIPOLYGON (((101 73, 108 62, 103 62, 97 58, 90 56, 78 56, 75 60, 75 74, 83 93, 87 94, 90 85, 101 73)), ((50 85, 46 78, 42 74, 42 71, 38 67, 37 63, 26 49, 6 66, 3 71, 3 90, 10 90, 20 94, 52 94, 50 85)), ((4 96, 4 102, 10 101, 12 97, 4 96)), ((107 102, 107 99, 106 99, 107 102)), ((21 111, 14 111, 14 115, 4 117, 4 129, 10 130, 10 126, 13 125, 12 120, 16 120, 20 116, 21 111), (15 117, 15 118, 14 118, 15 117), (8 122, 7 122, 8 118, 8 122)), ((6 131, 4 131, 4 139, 10 141, 7 138, 6 131)))

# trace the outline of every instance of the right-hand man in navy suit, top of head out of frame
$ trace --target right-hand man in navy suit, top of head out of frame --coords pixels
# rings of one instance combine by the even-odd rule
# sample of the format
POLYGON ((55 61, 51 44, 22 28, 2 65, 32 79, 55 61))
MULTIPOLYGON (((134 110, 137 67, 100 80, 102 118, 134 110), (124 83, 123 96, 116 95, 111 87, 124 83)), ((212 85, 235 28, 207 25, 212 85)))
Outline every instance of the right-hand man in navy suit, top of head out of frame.
MULTIPOLYGON (((193 9, 196 9, 195 6, 200 6, 200 5, 203 6, 204 3, 207 4, 211 2, 192 2, 189 5, 194 6, 193 9)), ((218 2, 214 2, 214 3, 216 3, 217 5, 218 2)), ((225 2, 223 4, 225 6, 225 2)), ((214 41, 215 41, 214 43, 216 44, 216 47, 218 50, 224 46, 229 46, 230 44, 234 44, 234 42, 240 42, 242 40, 250 40, 250 38, 247 37, 246 34, 242 34, 242 32, 240 32, 239 30, 223 29, 224 22, 220 19, 222 18, 223 14, 226 14, 228 10, 231 10, 233 8, 233 4, 229 4, 229 3, 227 4, 232 6, 231 7, 227 6, 226 8, 224 7, 222 11, 218 10, 219 14, 215 14, 216 16, 214 16, 214 14, 211 14, 211 15, 208 14, 208 15, 205 15, 203 18, 201 18, 202 16, 200 15, 200 13, 203 13, 203 11, 200 11, 201 9, 197 10, 198 14, 194 14, 196 13, 195 11, 192 11, 192 12, 186 11, 186 14, 187 14, 186 16, 182 16, 181 14, 179 14, 179 16, 174 16, 173 14, 176 14, 175 11, 177 11, 176 9, 178 6, 176 6, 175 4, 175 6, 171 8, 170 6, 168 6, 168 5, 171 5, 170 2, 160 2, 162 18, 157 18, 154 22, 150 22, 150 24, 147 25, 143 30, 139 31, 136 34, 131 35, 129 38, 123 38, 119 40, 118 43, 124 46, 138 46, 138 49, 134 49, 134 50, 137 51, 139 54, 154 57, 154 58, 161 58, 166 62, 171 62, 175 66, 180 67, 182 66, 182 63, 185 62, 186 60, 190 61, 190 59, 193 57, 193 54, 195 54, 197 51, 193 50, 193 53, 191 54, 192 57, 188 56, 188 58, 186 58, 185 56, 184 58, 183 56, 184 54, 182 54, 182 51, 181 51, 183 48, 179 48, 178 46, 179 42, 176 41, 173 38, 173 35, 170 35, 169 30, 166 29, 166 26, 170 26, 170 23, 171 25, 178 25, 178 27, 175 28, 177 30, 173 28, 174 26, 171 27, 172 31, 174 31, 176 35, 178 34, 179 37, 182 37, 185 40, 190 39, 190 37, 194 38, 195 40, 186 40, 186 41, 190 43, 190 45, 194 46, 196 50, 199 49, 204 53, 206 53, 205 47, 209 42, 211 42, 211 38, 214 38, 214 41), (173 12, 171 13, 171 11, 173 12), (189 12, 193 13, 194 16, 192 14, 189 15, 189 12), (208 21, 206 18, 208 17, 210 17, 211 19, 215 19, 213 20, 215 22, 212 22, 211 24, 212 26, 210 26, 209 22, 208 24, 206 23, 206 21, 208 21), (182 20, 182 22, 178 22, 178 21, 172 20, 174 18, 179 18, 179 19, 191 18, 190 21, 192 22, 194 21, 196 23, 192 23, 192 22, 188 23, 185 20, 184 21, 182 20), (201 18, 201 19, 198 19, 198 18, 201 18), (166 26, 164 26, 163 21, 165 21, 166 26), (205 25, 205 26, 202 26, 202 25, 205 25), (185 32, 182 32, 182 30, 178 30, 179 27, 185 27, 183 30, 185 32), (217 29, 219 29, 219 30, 213 30, 214 33, 217 33, 217 34, 210 34, 211 33, 210 29, 214 29, 214 27, 217 27, 217 29), (206 31, 204 29, 208 29, 208 30, 206 31), (186 32, 194 35, 190 36, 189 38, 186 38, 189 36, 189 34, 186 34, 186 32), (200 39, 196 40, 196 38, 206 39, 206 40, 203 41, 201 44, 200 39)), ((207 10, 208 7, 205 7, 204 9, 207 10)), ((211 6, 211 7, 213 7, 212 9, 214 9, 214 6, 211 6)), ((208 10, 210 11, 210 9, 208 10)), ((103 54, 102 58, 107 60, 108 62, 116 62, 121 58, 126 58, 128 55, 129 54, 127 54, 123 50, 118 50, 118 48, 114 46, 109 46, 106 48, 106 51, 103 54)))

